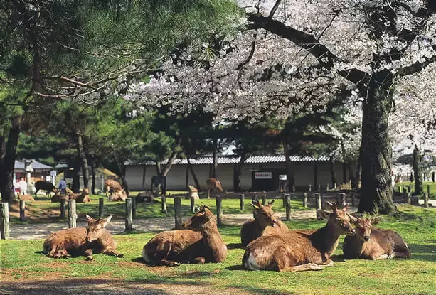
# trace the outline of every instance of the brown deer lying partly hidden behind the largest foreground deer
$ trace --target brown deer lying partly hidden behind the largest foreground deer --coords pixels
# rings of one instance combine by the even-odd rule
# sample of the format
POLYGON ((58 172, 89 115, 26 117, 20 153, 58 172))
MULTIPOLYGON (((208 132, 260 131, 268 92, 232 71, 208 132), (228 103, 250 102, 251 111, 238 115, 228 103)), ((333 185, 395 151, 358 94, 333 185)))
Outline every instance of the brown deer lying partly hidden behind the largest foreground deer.
POLYGON ((272 211, 272 203, 262 205, 257 201, 255 204, 250 203, 254 208, 255 219, 246 221, 240 229, 240 242, 243 247, 247 247, 250 242, 262 237, 262 235, 281 235, 283 232, 289 232, 289 229, 282 220, 275 218, 272 211))

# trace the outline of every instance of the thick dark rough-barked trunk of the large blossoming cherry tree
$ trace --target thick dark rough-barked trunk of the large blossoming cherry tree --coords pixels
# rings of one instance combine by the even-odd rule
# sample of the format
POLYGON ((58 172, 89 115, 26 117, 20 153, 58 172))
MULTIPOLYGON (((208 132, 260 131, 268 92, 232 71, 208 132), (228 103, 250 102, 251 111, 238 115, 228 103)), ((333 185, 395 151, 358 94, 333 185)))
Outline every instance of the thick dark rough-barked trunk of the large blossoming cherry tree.
POLYGON ((393 75, 388 70, 373 73, 368 94, 363 101, 362 119, 362 188, 358 212, 395 213, 390 178, 388 117, 392 105, 393 75))

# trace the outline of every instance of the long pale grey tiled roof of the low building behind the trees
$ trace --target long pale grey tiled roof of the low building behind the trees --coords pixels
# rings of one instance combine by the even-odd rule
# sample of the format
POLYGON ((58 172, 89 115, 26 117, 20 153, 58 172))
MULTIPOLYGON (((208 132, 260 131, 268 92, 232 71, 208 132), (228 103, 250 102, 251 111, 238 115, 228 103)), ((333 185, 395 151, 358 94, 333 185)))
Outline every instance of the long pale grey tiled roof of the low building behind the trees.
MULTIPOLYGON (((312 161, 329 161, 329 156, 298 156, 298 155, 292 155, 289 156, 289 159, 291 162, 312 162, 312 161)), ((218 156, 218 165, 219 164, 232 164, 232 163, 238 163, 240 160, 240 157, 238 156, 218 156)), ((161 164, 167 163, 168 159, 161 161, 161 164)), ((213 163, 213 157, 212 156, 202 156, 198 158, 191 158, 189 159, 191 164, 193 165, 209 165, 213 163)), ((250 156, 245 163, 247 164, 254 164, 254 163, 284 163, 285 162, 285 155, 284 154, 275 154, 275 155, 269 155, 269 156, 250 156)), ((174 159, 173 165, 186 165, 188 163, 188 160, 186 159, 174 159)), ((156 162, 154 161, 147 161, 144 163, 132 163, 131 161, 127 161, 125 165, 154 165, 156 162)))

